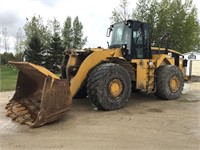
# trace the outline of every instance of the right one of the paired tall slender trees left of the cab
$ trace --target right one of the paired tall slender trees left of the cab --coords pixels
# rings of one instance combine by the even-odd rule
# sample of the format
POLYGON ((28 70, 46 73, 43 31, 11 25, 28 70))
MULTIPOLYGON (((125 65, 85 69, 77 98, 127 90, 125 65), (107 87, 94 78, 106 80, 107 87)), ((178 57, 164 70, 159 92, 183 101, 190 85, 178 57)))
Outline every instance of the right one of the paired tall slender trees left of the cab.
POLYGON ((87 42, 87 37, 83 38, 83 24, 78 16, 73 21, 73 48, 81 49, 87 42))

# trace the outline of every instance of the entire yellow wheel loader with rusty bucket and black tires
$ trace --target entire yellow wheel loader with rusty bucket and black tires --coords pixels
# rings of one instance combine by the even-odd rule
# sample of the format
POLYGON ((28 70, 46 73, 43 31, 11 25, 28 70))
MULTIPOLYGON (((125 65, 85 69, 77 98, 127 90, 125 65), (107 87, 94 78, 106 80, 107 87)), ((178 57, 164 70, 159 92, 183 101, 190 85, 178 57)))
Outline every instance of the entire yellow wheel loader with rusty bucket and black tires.
POLYGON ((6 106, 7 116, 31 127, 55 121, 71 107, 75 96, 88 96, 101 110, 124 107, 133 90, 177 99, 183 90, 183 55, 168 48, 170 34, 151 47, 149 25, 127 20, 111 25, 108 49, 66 51, 62 77, 28 62, 10 62, 19 71, 16 92, 6 106))

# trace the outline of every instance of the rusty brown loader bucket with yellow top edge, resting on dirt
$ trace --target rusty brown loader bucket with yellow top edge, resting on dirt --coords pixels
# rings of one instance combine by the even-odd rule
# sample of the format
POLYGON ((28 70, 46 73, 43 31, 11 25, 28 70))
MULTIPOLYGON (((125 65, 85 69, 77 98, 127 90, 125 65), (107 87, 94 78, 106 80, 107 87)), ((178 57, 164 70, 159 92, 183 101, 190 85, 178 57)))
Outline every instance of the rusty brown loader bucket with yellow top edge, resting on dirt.
POLYGON ((68 80, 32 63, 9 63, 20 71, 15 94, 6 105, 7 116, 18 123, 39 127, 61 118, 71 107, 68 80))

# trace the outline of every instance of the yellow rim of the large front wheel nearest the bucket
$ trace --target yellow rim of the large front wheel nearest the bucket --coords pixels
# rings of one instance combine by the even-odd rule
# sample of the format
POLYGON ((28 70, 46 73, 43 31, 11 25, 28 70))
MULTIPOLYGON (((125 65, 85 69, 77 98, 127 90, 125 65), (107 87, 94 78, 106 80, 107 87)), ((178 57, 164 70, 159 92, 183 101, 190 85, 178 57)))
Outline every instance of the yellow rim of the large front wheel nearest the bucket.
POLYGON ((122 91, 123 91, 123 83, 121 80, 119 79, 113 79, 110 83, 109 83, 109 94, 112 98, 117 98, 121 95, 122 91))

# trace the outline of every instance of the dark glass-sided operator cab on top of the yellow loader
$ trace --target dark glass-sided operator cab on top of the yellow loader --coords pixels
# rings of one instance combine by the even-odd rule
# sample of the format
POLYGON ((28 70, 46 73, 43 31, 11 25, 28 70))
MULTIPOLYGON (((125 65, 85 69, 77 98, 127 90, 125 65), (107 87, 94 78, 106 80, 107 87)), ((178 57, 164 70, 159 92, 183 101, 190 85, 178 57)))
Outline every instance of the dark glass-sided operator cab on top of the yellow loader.
POLYGON ((150 29, 144 22, 127 20, 108 28, 111 35, 109 48, 122 48, 127 60, 151 58, 150 29))

